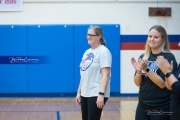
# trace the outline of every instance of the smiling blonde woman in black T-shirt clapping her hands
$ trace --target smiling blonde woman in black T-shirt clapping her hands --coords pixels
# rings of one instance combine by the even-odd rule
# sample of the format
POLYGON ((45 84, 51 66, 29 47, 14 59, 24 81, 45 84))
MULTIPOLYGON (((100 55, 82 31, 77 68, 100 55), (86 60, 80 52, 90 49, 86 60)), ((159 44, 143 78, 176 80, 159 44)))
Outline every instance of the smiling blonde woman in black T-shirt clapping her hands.
MULTIPOLYGON (((139 86, 139 102, 136 108, 136 120, 170 120, 170 91, 165 87, 165 75, 156 64, 158 56, 164 56, 174 68, 177 66, 170 52, 166 30, 155 25, 150 28, 145 53, 131 63, 136 70, 134 82, 139 86)), ((174 71, 174 70, 173 70, 174 71)))

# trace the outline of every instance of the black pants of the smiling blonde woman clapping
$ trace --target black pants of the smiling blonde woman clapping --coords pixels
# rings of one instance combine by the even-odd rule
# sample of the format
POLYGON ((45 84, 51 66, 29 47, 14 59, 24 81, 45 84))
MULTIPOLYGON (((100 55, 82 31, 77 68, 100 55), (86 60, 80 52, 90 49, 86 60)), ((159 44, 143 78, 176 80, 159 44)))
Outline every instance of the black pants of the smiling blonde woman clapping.
POLYGON ((169 108, 144 109, 138 103, 135 120, 170 120, 169 108))

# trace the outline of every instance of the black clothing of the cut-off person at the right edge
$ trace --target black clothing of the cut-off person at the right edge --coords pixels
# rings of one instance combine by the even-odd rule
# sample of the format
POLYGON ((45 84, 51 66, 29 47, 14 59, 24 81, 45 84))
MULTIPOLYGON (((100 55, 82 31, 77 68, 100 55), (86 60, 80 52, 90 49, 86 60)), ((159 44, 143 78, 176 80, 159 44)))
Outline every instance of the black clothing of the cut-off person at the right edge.
POLYGON ((171 120, 180 120, 180 64, 178 66, 175 77, 177 82, 172 84, 170 112, 172 112, 171 120))

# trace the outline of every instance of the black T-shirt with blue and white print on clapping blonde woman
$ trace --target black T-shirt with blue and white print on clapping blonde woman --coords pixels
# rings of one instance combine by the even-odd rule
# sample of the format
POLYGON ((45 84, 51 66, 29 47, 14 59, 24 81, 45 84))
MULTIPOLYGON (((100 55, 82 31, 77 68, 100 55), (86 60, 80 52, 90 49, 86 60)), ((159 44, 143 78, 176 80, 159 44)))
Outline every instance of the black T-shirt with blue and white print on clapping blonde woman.
MULTIPOLYGON (((165 75, 158 68, 155 62, 158 56, 164 56, 164 58, 167 59, 169 63, 171 60, 173 60, 174 68, 177 68, 177 62, 172 53, 161 52, 159 54, 150 54, 147 64, 148 68, 159 75, 165 81, 165 75)), ((140 56, 140 58, 142 57, 143 54, 140 56)), ((150 80, 145 72, 142 74, 142 83, 139 89, 139 103, 144 109, 157 109, 170 106, 170 91, 166 87, 163 89, 158 87, 150 80)))

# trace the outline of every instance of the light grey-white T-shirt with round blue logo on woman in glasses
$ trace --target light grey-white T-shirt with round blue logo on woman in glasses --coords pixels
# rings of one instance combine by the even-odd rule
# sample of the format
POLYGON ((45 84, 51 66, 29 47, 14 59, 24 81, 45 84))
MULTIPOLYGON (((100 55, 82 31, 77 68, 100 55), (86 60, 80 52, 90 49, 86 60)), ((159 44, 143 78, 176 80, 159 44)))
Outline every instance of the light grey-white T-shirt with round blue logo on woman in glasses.
MULTIPOLYGON (((112 55, 104 45, 85 51, 80 63, 82 96, 93 97, 99 95, 102 80, 101 68, 111 67, 111 63, 112 55)), ((110 97, 110 79, 104 97, 110 97)))

